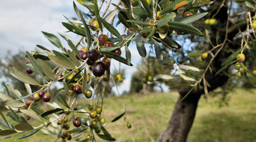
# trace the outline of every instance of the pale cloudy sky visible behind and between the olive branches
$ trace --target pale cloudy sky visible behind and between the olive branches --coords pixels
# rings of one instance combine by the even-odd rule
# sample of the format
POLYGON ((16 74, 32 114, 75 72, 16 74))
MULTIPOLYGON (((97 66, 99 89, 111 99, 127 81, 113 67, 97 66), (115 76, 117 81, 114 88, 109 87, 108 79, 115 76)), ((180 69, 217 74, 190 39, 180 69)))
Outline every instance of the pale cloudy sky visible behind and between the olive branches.
MULTIPOLYGON (((118 0, 112 0, 112 3, 117 2, 118 0)), ((78 2, 75 3, 80 10, 88 12, 78 2)), ((106 7, 106 3, 104 3, 104 7, 106 7)), ((111 6, 110 9, 113 10, 114 6, 111 6)), ((12 54, 16 54, 19 50, 25 52, 38 49, 36 44, 56 50, 57 47, 51 44, 41 31, 56 35, 62 45, 68 48, 67 42, 57 33, 67 31, 61 24, 61 22, 67 22, 63 15, 68 18, 77 17, 72 0, 0 0, 0 49, 2 51, 0 57, 5 56, 8 50, 11 50, 12 54)), ((120 34, 124 34, 122 27, 119 26, 117 29, 121 32, 120 34)), ((67 33, 67 35, 76 41, 80 38, 73 33, 67 33)), ((121 68, 125 68, 126 78, 118 87, 121 93, 129 91, 131 74, 136 71, 136 65, 141 60, 135 44, 131 44, 129 49, 132 55, 131 63, 134 66, 121 64, 121 68)), ((121 56, 125 57, 125 53, 121 56)), ((111 70, 115 69, 114 66, 119 68, 118 61, 111 62, 111 70)))

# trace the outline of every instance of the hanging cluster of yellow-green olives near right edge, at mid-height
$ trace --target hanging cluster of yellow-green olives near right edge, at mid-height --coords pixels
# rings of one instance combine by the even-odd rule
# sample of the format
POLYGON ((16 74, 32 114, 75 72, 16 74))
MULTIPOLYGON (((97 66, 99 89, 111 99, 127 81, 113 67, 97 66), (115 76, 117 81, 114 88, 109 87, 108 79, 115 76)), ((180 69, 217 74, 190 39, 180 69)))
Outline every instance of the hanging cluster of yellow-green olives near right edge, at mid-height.
POLYGON ((235 75, 236 75, 237 77, 239 77, 239 78, 242 76, 242 73, 247 73, 247 71, 248 71, 247 67, 244 66, 244 64, 242 63, 244 60, 245 60, 244 54, 241 53, 241 54, 238 54, 238 55, 237 55, 237 63, 235 63, 234 68, 235 68, 236 70, 238 70, 238 71, 235 73, 235 75))

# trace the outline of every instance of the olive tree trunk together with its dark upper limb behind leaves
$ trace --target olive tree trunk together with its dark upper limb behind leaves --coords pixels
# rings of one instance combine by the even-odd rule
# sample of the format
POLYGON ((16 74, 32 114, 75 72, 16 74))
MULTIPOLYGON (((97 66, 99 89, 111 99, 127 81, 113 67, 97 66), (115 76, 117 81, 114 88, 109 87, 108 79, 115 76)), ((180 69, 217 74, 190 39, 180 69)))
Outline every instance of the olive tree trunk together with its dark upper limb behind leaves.
MULTIPOLYGON (((220 5, 219 3, 215 3, 216 5, 220 5)), ((215 5, 215 6, 216 6, 215 5)), ((226 5, 226 4, 225 4, 226 5)), ((214 5, 211 5, 211 7, 214 7, 214 5)), ((209 8, 211 9, 211 8, 209 8)), ((217 10, 216 8, 214 8, 217 10)), ((215 12, 212 12, 211 15, 215 14, 215 12)), ((254 13, 251 13, 254 15, 254 13)), ((211 17, 211 16, 210 16, 211 17)), ((223 27, 218 27, 218 29, 224 29, 225 23, 227 22, 227 7, 222 7, 220 11, 218 12, 215 17, 218 21, 223 23, 223 27)), ((217 31, 218 29, 215 29, 214 26, 211 27, 211 31, 217 31)), ((242 31, 246 29, 246 25, 240 27, 242 31)), ((230 41, 234 42, 234 36, 239 32, 238 29, 233 30, 228 33, 228 39, 230 41)), ((224 39, 225 33, 223 31, 220 31, 220 39, 224 39)), ((216 41, 215 36, 211 36, 211 41, 216 41)), ((227 46, 232 47, 233 49, 237 49, 240 46, 231 45, 229 42, 226 43, 227 46)), ((213 52, 216 52, 213 51, 213 52)), ((215 53, 214 53, 215 54, 215 53)), ((216 58, 214 59, 212 63, 212 69, 213 73, 206 73, 206 80, 210 84, 211 87, 208 87, 208 92, 212 91, 220 86, 222 86, 224 83, 228 81, 228 74, 227 73, 220 73, 217 76, 214 76, 216 72, 221 69, 221 63, 230 56, 231 52, 228 51, 222 51, 219 53, 216 58)), ((225 71, 223 71, 225 72, 225 71)), ((202 83, 201 83, 201 86, 202 83)), ((199 87, 197 87, 199 88, 199 87)), ((194 118, 195 118, 195 112, 197 109, 197 103, 200 99, 201 94, 204 93, 203 89, 197 89, 193 90, 184 100, 181 101, 183 96, 187 94, 187 92, 190 90, 190 88, 180 88, 178 91, 180 93, 180 97, 178 98, 178 101, 176 102, 175 108, 173 110, 173 114, 171 116, 169 125, 167 129, 159 135, 156 142, 186 142, 187 135, 189 134, 189 130, 193 124, 194 118)))

